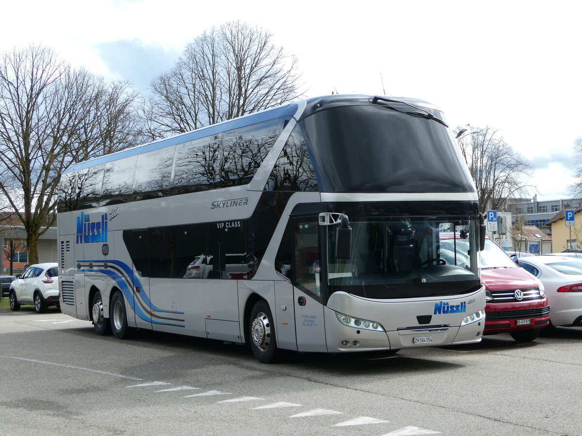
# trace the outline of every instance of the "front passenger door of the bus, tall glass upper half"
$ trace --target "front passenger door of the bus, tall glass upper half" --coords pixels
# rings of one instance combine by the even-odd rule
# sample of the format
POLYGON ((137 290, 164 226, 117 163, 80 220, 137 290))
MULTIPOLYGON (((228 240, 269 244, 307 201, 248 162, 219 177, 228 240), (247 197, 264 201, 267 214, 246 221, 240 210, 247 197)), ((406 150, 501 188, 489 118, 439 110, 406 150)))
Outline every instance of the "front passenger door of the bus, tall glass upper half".
POLYGON ((324 305, 321 303, 321 263, 318 218, 292 219, 293 305, 297 351, 327 351, 324 305))

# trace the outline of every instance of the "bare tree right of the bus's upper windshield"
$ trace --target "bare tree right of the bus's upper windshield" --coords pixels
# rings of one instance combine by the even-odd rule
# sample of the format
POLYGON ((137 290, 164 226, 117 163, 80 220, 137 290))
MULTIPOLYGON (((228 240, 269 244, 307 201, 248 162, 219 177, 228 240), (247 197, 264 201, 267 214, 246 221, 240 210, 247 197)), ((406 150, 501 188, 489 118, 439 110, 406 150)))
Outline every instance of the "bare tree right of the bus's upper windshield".
POLYGON ((497 209, 510 197, 526 196, 533 188, 526 182, 531 177, 530 163, 503 141, 497 130, 485 127, 458 141, 477 187, 481 210, 497 209))

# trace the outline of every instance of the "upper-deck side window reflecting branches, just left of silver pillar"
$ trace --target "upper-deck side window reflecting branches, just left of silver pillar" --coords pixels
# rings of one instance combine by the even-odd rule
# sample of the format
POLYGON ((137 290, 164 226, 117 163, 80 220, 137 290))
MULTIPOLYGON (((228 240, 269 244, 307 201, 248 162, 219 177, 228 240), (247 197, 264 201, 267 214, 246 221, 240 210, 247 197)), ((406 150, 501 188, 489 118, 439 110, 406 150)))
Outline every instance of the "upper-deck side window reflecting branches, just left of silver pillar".
POLYGON ((222 134, 218 176, 223 186, 251 181, 279 137, 278 123, 274 119, 222 134))

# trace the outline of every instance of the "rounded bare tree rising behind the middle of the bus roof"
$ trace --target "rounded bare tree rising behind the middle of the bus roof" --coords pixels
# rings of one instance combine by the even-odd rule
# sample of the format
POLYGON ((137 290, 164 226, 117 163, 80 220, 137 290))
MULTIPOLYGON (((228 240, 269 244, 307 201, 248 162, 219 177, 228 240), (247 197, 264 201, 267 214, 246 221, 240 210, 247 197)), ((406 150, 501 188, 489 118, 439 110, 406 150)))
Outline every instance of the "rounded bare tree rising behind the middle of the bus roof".
POLYGON ((300 94, 296 69, 296 58, 275 47, 268 31, 238 21, 213 27, 187 45, 172 70, 152 81, 150 108, 143 110, 150 137, 292 101, 300 94))

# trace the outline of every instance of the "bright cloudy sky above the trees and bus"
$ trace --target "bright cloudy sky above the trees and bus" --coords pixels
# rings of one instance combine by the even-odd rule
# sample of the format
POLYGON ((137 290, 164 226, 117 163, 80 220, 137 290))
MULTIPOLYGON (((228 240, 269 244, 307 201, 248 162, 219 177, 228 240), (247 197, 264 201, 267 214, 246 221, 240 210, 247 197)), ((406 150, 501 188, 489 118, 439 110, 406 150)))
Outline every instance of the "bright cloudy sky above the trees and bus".
POLYGON ((570 196, 582 2, 20 0, 3 2, 2 15, 0 51, 47 45, 143 92, 204 30, 257 24, 297 56, 308 97, 430 101, 450 126, 497 129, 533 163, 538 199, 570 196))

